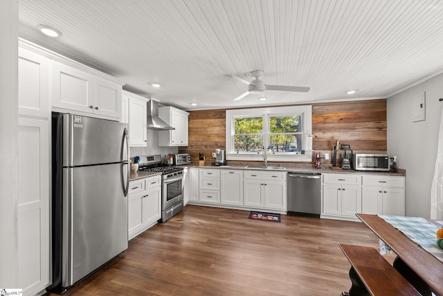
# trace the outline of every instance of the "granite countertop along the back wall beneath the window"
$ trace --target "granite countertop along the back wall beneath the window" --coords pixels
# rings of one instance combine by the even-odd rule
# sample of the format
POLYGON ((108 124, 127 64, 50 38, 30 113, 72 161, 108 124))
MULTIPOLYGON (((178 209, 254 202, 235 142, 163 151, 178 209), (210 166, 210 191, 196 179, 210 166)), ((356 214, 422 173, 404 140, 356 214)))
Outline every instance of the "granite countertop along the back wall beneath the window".
POLYGON ((247 162, 228 162, 227 166, 199 166, 199 162, 191 162, 187 166, 190 168, 219 168, 230 170, 262 170, 262 171, 282 171, 291 173, 341 173, 341 174, 359 174, 359 175, 387 175, 387 176, 406 176, 406 170, 398 168, 397 172, 378 172, 378 171, 354 171, 343 170, 338 166, 322 166, 322 168, 314 168, 313 164, 294 164, 294 163, 269 163, 269 168, 247 168, 246 166, 262 166, 263 164, 247 163, 247 162), (279 168, 280 167, 280 168, 279 168))

